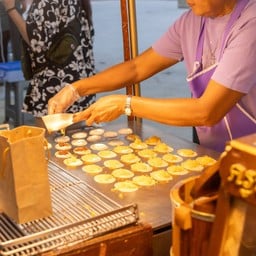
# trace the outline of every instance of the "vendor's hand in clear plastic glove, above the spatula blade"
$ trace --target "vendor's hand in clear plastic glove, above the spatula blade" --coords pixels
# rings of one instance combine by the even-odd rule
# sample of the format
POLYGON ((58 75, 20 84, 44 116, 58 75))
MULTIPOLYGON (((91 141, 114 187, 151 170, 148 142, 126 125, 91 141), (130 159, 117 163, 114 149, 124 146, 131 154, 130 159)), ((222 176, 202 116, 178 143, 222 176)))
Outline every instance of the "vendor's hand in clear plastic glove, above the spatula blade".
POLYGON ((48 101, 48 115, 65 112, 79 98, 75 87, 67 84, 48 101))

